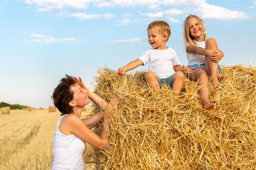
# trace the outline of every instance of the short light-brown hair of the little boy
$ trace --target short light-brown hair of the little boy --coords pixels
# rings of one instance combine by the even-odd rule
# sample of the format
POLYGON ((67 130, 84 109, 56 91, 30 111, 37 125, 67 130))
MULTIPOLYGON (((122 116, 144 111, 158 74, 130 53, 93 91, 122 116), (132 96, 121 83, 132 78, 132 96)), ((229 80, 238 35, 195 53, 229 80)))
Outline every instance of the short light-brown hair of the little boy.
POLYGON ((156 20, 154 22, 151 22, 148 25, 148 30, 152 28, 157 28, 160 34, 162 34, 163 36, 167 36, 166 42, 168 41, 171 35, 171 28, 166 22, 164 22, 163 20, 156 20))

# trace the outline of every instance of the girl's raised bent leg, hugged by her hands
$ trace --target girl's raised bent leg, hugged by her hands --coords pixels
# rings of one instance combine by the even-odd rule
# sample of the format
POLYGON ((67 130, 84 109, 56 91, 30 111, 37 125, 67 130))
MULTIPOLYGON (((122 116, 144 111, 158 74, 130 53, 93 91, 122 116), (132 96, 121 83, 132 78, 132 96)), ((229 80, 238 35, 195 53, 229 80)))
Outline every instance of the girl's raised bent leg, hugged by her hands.
MULTIPOLYGON (((205 42, 205 49, 218 50, 217 42, 214 38, 209 38, 205 42)), ((212 77, 212 85, 214 89, 220 87, 220 82, 218 80, 219 67, 218 62, 212 61, 208 56, 205 56, 205 71, 208 76, 212 77)))

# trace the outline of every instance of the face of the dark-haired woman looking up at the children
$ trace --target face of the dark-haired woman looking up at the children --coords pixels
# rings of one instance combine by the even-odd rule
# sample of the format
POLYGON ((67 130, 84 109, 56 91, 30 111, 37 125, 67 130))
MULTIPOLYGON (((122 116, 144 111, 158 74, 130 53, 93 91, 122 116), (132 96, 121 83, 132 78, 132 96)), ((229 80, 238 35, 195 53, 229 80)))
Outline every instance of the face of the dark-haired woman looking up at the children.
POLYGON ((72 90, 72 92, 74 92, 73 100, 76 102, 76 106, 83 107, 86 104, 91 102, 91 100, 87 96, 88 90, 83 89, 77 83, 70 86, 70 90, 72 90))

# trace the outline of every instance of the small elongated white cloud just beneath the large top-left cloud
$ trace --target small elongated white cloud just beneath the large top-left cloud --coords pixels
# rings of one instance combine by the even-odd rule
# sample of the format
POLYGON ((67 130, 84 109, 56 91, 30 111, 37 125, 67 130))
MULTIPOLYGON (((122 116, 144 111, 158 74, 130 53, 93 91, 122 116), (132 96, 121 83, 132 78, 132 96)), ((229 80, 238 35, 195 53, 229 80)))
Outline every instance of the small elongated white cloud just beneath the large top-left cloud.
POLYGON ((66 15, 66 16, 79 18, 80 20, 90 20, 90 19, 95 19, 95 18, 105 18, 106 20, 108 20, 109 18, 113 17, 113 15, 111 13, 105 13, 103 15, 87 14, 87 13, 72 13, 72 14, 66 15))

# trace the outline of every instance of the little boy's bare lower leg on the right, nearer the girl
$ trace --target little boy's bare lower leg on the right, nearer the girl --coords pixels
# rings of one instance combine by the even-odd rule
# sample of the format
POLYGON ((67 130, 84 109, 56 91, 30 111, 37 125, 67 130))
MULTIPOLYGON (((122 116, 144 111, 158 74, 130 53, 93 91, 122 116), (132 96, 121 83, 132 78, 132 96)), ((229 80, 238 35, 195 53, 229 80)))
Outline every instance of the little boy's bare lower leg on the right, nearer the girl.
POLYGON ((173 90, 173 94, 175 96, 179 96, 180 95, 182 86, 184 84, 184 78, 185 78, 185 76, 184 76, 184 74, 181 71, 176 71, 176 73, 173 74, 173 77, 172 77, 172 82, 173 82, 172 90, 173 90))

